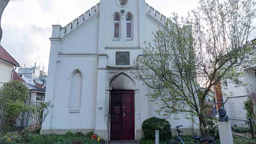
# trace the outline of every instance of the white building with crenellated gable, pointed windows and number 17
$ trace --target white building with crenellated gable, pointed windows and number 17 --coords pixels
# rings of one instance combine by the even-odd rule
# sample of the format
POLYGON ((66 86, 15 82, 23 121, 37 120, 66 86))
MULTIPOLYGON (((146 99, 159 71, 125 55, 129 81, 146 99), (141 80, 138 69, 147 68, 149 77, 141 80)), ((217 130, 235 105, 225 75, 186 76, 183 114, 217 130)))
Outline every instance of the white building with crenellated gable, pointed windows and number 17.
MULTIPOLYGON (((52 25, 46 100, 54 104, 41 133, 94 131, 106 140, 140 139, 141 125, 158 116, 150 90, 132 78, 144 41, 166 17, 145 0, 101 0, 65 27, 52 25), (121 11, 122 10, 122 11, 121 11)), ((171 22, 170 22, 171 23, 171 22)), ((184 135, 200 134, 192 120, 170 117, 184 135)))

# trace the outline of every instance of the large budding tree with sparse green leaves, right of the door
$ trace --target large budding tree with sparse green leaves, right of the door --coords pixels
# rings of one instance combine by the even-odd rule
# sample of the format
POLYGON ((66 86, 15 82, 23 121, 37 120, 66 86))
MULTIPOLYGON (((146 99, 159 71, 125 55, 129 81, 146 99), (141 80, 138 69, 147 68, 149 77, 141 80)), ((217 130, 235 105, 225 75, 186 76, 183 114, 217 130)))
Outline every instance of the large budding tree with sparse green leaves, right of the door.
POLYGON ((205 97, 218 83, 243 85, 241 68, 256 63, 255 44, 248 41, 255 18, 251 0, 199 0, 186 18, 173 16, 145 42, 135 62, 137 80, 152 89, 156 112, 166 117, 185 114, 206 127, 205 97))

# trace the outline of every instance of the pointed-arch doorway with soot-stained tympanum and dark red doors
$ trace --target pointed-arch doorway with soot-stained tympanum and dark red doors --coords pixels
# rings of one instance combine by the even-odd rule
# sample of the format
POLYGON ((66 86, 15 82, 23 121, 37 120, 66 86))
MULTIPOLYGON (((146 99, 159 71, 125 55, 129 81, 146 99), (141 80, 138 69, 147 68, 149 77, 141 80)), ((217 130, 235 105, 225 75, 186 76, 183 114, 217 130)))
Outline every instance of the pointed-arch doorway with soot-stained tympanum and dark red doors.
POLYGON ((110 83, 110 140, 135 139, 134 81, 120 73, 110 83))

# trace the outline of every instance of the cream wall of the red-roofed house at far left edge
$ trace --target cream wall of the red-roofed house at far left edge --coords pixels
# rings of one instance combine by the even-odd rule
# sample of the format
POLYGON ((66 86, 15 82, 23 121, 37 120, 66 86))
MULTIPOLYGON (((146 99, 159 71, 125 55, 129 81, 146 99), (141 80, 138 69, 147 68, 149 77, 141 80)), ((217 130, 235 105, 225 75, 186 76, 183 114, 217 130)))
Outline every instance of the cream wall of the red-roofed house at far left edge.
POLYGON ((0 60, 0 87, 3 86, 4 83, 10 82, 12 70, 14 69, 14 65, 11 65, 5 61, 0 60))

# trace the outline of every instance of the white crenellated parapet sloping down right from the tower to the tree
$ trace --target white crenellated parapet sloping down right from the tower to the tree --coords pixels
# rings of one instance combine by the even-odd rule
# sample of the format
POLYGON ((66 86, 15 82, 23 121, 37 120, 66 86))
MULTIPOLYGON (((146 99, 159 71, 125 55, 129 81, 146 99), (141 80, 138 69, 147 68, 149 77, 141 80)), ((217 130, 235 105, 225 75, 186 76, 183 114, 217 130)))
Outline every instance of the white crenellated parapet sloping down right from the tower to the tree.
POLYGON ((168 20, 169 24, 172 24, 171 20, 166 18, 166 16, 164 16, 163 14, 155 10, 152 6, 148 5, 147 3, 146 3, 146 13, 163 25, 165 25, 166 20, 168 20))

